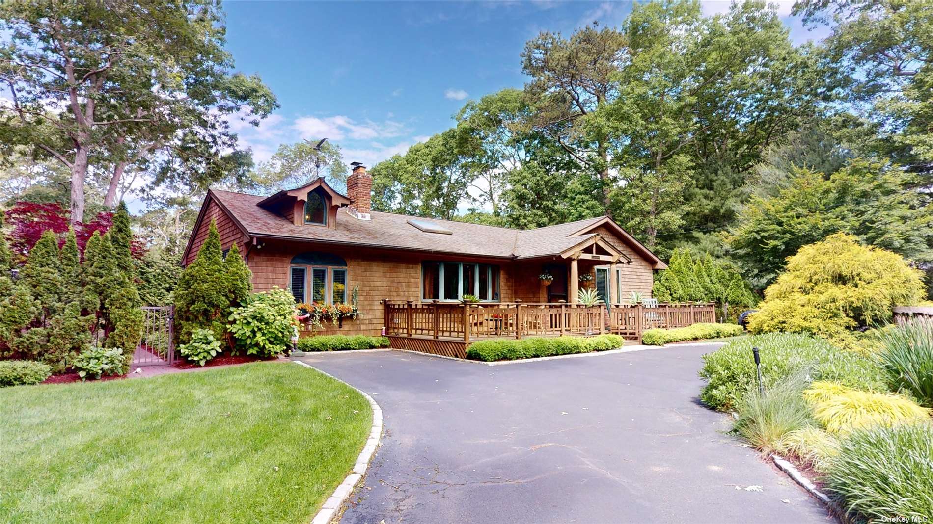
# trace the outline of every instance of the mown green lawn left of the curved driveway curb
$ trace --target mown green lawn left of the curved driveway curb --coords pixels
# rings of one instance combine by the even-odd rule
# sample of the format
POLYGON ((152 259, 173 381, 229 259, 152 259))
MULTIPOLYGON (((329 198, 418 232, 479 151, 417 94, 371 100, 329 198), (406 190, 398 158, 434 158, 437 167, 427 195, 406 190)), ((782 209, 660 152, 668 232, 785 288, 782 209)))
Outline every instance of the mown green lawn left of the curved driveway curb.
POLYGON ((0 521, 307 522, 353 469, 366 399, 238 365, 0 390, 0 521))

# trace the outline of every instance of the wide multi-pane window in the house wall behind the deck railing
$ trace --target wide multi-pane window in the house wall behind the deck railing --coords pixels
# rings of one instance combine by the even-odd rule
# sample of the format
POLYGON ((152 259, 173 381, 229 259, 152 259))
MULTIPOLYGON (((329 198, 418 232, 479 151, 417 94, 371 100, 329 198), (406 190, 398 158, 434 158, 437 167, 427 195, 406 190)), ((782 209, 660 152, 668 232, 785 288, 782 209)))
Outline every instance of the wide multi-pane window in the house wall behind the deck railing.
POLYGON ((421 266, 422 300, 462 300, 473 295, 499 301, 499 267, 471 262, 425 261, 421 266))

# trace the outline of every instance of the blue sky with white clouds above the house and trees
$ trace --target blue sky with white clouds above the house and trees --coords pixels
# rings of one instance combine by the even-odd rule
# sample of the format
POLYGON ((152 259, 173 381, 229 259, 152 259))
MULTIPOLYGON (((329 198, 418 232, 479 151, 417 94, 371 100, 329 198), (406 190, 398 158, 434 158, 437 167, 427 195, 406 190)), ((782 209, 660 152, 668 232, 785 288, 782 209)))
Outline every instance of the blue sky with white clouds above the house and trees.
MULTIPOLYGON (((815 37, 776 4, 795 42, 815 37)), ((449 128, 467 99, 521 88, 524 43, 629 2, 228 2, 227 48, 282 107, 258 128, 234 122, 258 161, 279 144, 327 137, 368 166, 449 128)), ((704 2, 708 14, 729 2, 704 2)))

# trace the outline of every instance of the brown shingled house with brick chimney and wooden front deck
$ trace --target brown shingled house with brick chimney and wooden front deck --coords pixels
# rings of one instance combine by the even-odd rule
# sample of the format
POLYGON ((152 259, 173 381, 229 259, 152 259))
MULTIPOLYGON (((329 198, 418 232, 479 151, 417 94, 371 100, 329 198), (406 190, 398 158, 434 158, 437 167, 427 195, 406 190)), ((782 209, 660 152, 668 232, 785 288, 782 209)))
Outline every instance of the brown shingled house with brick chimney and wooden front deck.
POLYGON ((296 302, 327 304, 349 303, 357 291, 357 318, 314 333, 384 333, 394 346, 445 354, 480 337, 632 335, 638 319, 614 315, 631 292, 650 296, 652 271, 666 267, 606 216, 496 228, 371 211, 371 187, 357 165, 346 195, 323 178, 269 197, 210 190, 183 262, 214 220, 223 249, 241 246, 257 291, 279 286, 296 302), (576 305, 580 285, 594 286, 610 307, 576 305), (465 296, 479 301, 465 305, 465 296))

